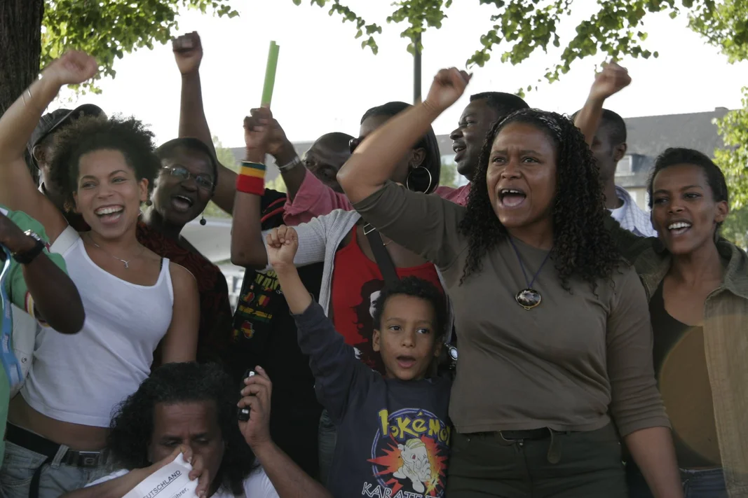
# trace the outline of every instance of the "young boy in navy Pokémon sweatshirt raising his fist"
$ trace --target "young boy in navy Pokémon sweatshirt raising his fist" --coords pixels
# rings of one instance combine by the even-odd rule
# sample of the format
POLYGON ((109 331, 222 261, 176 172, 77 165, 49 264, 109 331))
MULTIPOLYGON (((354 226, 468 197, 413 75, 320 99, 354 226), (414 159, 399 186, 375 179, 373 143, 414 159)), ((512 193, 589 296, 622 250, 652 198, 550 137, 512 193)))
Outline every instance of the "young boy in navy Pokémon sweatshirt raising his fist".
POLYGON ((328 489, 336 498, 444 496, 451 382, 426 378, 441 351, 444 297, 415 277, 385 287, 374 304, 374 351, 384 377, 355 357, 301 283, 295 230, 267 237, 268 258, 310 357, 319 401, 337 425, 328 489))

